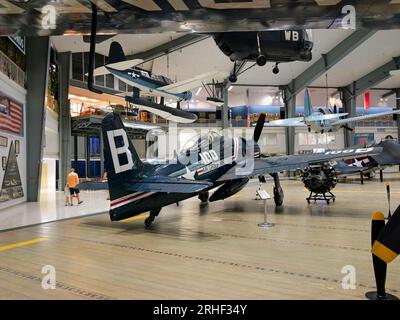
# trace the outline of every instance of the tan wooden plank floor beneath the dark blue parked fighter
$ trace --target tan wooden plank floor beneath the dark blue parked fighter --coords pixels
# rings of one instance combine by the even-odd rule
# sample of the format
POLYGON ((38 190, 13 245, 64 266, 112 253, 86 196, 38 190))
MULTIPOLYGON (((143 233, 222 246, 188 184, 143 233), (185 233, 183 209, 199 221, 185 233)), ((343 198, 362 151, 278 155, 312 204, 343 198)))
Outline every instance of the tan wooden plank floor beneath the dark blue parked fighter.
MULTIPOLYGON (((393 209, 400 176, 392 175, 393 209)), ((364 299, 374 289, 370 215, 387 213, 385 184, 339 184, 333 205, 307 205, 301 182, 285 181, 285 204, 269 203, 272 229, 261 229, 262 201, 250 184, 222 202, 197 198, 162 210, 152 230, 143 218, 110 222, 107 214, 0 233, 1 299, 364 299), (41 286, 56 268, 56 290, 41 286), (341 286, 356 269, 356 289, 341 286)), ((269 192, 271 184, 265 187, 269 192)), ((387 290, 400 296, 400 259, 387 290)))

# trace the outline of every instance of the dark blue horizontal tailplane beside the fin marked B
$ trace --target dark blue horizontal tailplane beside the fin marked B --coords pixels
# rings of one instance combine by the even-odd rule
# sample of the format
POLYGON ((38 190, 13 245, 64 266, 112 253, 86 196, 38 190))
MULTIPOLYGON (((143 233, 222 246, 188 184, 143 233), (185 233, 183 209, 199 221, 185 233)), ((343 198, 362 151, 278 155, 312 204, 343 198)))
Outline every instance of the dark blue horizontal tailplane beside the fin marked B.
POLYGON ((133 192, 197 193, 210 188, 212 185, 213 183, 207 181, 154 176, 126 183, 124 187, 125 190, 133 192))

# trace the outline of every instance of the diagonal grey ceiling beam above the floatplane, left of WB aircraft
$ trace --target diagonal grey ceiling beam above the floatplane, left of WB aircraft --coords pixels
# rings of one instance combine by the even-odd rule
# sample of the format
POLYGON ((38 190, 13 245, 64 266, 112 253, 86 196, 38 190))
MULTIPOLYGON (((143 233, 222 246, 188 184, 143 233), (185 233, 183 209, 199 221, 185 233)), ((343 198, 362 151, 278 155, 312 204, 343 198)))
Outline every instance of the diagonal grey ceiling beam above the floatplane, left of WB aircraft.
POLYGON ((209 37, 208 35, 202 35, 202 34, 186 34, 180 38, 171 40, 167 43, 163 43, 147 51, 142 51, 139 53, 128 55, 126 56, 126 59, 127 60, 143 59, 144 62, 146 62, 149 60, 165 56, 176 50, 183 49, 199 41, 205 40, 208 37, 209 37))

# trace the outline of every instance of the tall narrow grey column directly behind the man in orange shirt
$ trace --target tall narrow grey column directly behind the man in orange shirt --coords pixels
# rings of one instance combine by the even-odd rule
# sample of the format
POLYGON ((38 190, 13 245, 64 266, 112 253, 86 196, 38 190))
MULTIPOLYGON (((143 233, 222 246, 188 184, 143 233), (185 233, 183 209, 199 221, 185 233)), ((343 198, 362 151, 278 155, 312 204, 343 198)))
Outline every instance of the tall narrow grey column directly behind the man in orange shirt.
POLYGON ((67 174, 71 167, 71 110, 68 100, 68 88, 71 68, 71 52, 62 52, 57 55, 59 67, 59 135, 60 161, 58 190, 64 190, 67 174))

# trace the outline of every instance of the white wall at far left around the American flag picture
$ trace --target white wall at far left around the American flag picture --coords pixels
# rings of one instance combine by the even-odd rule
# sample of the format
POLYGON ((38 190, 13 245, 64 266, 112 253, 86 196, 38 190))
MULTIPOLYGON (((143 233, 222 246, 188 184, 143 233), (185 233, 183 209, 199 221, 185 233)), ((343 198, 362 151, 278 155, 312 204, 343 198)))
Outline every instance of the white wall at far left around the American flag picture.
MULTIPOLYGON (((21 176, 22 189, 24 192, 24 196, 21 198, 8 200, 4 202, 0 202, 0 209, 4 209, 10 207, 12 205, 25 202, 26 201, 26 90, 18 86, 15 82, 8 79, 3 73, 0 72, 0 91, 10 97, 11 99, 21 103, 24 109, 24 133, 23 136, 14 135, 6 131, 0 130, 0 136, 6 137, 8 139, 7 147, 0 147, 0 160, 2 157, 8 158, 8 153, 10 151, 11 141, 19 140, 20 141, 20 154, 17 156, 17 163, 19 174, 21 176)), ((15 144, 15 142, 13 143, 15 144)), ((5 170, 2 169, 0 165, 0 188, 3 185, 5 170)), ((1 214, 1 211, 0 211, 1 214)))

